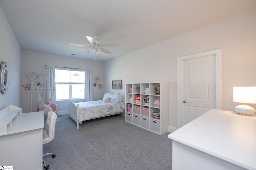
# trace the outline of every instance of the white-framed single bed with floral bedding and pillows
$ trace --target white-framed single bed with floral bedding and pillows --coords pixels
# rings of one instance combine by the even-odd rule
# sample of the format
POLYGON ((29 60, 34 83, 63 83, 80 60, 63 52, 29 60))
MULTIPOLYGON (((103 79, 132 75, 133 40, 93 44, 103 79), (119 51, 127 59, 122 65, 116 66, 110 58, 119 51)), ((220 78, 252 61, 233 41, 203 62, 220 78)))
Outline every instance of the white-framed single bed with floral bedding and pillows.
POLYGON ((103 100, 79 103, 68 100, 67 116, 76 122, 76 128, 79 129, 83 121, 124 113, 123 96, 121 93, 105 93, 103 100))

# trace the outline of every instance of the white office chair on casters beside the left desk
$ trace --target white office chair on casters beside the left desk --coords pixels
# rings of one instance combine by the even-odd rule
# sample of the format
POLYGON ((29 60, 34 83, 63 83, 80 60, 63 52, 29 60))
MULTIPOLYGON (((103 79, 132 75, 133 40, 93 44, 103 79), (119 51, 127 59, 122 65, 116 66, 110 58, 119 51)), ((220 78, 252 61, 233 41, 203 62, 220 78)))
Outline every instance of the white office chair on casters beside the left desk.
MULTIPOLYGON (((43 131, 43 144, 46 144, 52 141, 52 139, 54 138, 56 119, 57 119, 57 115, 53 111, 49 111, 47 116, 47 121, 46 121, 46 127, 45 127, 45 130, 43 131)), ((52 158, 55 158, 56 156, 53 153, 46 153, 46 154, 43 154, 43 156, 46 156, 49 154, 52 155, 52 158)), ((43 160, 43 164, 44 164, 45 170, 48 170, 50 168, 50 166, 47 165, 44 160, 43 160)))

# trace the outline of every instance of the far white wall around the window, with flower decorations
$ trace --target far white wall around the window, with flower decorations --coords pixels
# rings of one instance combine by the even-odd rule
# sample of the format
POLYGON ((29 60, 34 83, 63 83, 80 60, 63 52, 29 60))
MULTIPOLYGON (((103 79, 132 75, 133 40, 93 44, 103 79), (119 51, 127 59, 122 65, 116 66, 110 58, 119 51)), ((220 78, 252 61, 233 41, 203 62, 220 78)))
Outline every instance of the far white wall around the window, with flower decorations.
MULTIPOLYGON (((85 59, 78 59, 73 57, 66 57, 62 55, 53 55, 48 53, 39 53, 35 51, 28 51, 22 50, 21 52, 21 83, 26 84, 27 82, 31 81, 28 79, 27 75, 30 72, 40 72, 45 70, 45 65, 52 65, 52 66, 60 66, 60 67, 72 67, 72 68, 82 68, 82 69, 90 69, 92 71, 92 81, 94 76, 100 76, 102 78, 102 89, 98 87, 92 88, 93 93, 93 100, 102 100, 105 90, 104 90, 104 83, 103 83, 103 63, 94 60, 85 60, 85 59)), ((44 73, 40 74, 40 82, 44 80, 44 73)), ((94 83, 94 82, 93 82, 94 83)), ((92 83, 92 84, 93 84, 92 83)), ((98 84, 97 84, 98 85, 98 84)), ((34 82, 34 86, 36 86, 36 82, 34 82)), ((35 111, 36 104, 37 104, 37 91, 33 88, 33 104, 32 104, 32 111, 35 111)), ((31 90, 26 91, 25 88, 22 87, 21 89, 21 106, 22 111, 30 112, 30 98, 31 98, 31 90)), ((66 114, 67 110, 67 102, 64 101, 58 104, 58 114, 66 114), (63 106, 63 109, 61 108, 63 106), (63 111, 63 113, 62 113, 63 111)))

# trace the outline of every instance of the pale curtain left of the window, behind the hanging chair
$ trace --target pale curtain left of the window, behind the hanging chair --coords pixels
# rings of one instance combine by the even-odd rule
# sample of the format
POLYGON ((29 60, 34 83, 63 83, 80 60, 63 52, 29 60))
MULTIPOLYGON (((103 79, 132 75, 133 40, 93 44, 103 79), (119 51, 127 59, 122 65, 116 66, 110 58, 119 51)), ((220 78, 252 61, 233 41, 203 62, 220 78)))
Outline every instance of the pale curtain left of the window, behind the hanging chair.
POLYGON ((47 70, 46 76, 47 76, 48 81, 44 82, 43 88, 51 89, 51 90, 43 90, 42 99, 43 99, 44 103, 46 104, 46 103, 48 103, 49 99, 51 98, 50 103, 56 104, 56 91, 53 93, 54 90, 52 89, 52 88, 55 89, 55 86, 56 86, 56 84, 55 84, 55 66, 46 65, 46 70, 47 70), (53 95, 52 95, 52 93, 53 93, 53 95))

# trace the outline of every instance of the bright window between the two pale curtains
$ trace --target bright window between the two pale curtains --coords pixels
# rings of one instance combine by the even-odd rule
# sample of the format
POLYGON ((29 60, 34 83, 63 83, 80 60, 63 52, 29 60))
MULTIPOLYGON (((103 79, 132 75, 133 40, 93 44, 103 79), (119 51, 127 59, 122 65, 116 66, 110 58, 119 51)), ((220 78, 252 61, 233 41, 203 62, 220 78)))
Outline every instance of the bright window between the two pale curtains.
POLYGON ((84 99, 84 70, 55 68, 56 100, 84 99))

